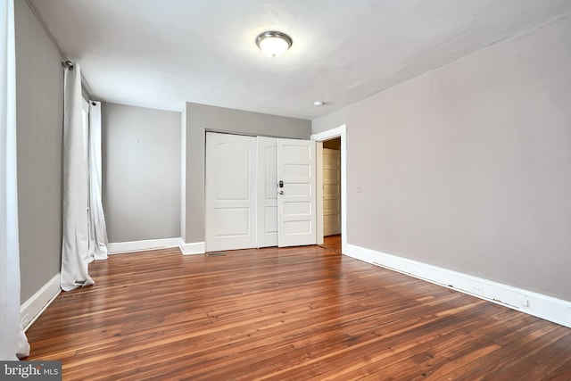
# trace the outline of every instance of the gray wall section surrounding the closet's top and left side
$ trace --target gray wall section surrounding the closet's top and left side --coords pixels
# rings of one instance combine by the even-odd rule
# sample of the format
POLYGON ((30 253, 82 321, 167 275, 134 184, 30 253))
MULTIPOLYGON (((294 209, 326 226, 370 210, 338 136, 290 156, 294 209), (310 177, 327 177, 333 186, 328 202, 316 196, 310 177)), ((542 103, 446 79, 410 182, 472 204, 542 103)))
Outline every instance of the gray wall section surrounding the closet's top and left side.
POLYGON ((186 103, 186 231, 183 234, 186 244, 204 242, 206 130, 309 139, 311 122, 258 112, 186 103))

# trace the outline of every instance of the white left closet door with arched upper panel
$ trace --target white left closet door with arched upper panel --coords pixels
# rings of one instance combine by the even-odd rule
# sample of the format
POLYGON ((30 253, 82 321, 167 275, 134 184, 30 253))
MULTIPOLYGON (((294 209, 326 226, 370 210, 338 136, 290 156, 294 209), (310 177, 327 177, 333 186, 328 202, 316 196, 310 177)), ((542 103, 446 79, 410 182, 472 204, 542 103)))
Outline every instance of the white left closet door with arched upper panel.
POLYGON ((256 246, 256 138, 206 134, 206 251, 256 246))

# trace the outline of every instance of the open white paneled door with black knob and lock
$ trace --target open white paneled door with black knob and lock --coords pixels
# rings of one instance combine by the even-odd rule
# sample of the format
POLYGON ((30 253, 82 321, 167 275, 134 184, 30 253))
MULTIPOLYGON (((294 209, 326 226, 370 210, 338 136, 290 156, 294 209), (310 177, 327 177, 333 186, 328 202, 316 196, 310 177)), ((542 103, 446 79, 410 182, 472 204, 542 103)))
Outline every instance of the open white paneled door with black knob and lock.
POLYGON ((316 244, 315 142, 277 140, 277 245, 316 244))

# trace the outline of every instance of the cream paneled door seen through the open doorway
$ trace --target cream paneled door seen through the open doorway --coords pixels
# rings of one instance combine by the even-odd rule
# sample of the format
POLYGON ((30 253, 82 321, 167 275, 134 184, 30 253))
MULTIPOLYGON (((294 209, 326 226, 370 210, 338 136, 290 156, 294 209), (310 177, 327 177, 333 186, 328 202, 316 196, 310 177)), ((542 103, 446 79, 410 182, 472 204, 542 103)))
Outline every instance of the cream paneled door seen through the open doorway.
POLYGON ((341 151, 323 149, 323 235, 341 234, 341 151))

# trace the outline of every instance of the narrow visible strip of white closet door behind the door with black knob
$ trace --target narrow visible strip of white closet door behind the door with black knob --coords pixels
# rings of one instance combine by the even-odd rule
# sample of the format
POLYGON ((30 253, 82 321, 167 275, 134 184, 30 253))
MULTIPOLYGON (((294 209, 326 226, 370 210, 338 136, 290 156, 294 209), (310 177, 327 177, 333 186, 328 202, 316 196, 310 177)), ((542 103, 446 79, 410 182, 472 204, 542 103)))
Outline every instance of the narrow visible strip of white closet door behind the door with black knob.
POLYGON ((277 246, 277 138, 258 137, 258 247, 277 246))

